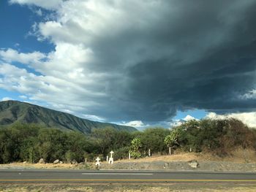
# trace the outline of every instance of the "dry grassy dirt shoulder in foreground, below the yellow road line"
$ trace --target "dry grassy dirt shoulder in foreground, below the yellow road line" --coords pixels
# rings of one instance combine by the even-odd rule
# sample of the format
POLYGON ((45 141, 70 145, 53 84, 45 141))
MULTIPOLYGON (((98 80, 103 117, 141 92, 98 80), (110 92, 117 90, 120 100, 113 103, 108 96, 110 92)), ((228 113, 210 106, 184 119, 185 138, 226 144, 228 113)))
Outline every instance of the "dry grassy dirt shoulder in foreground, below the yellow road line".
POLYGON ((56 192, 73 192, 73 191, 184 191, 184 192, 197 192, 197 191, 208 191, 208 192, 217 192, 217 191, 244 191, 252 192, 255 191, 256 185, 252 184, 230 184, 230 183, 157 183, 157 184, 143 184, 143 183, 104 183, 104 184, 7 184, 0 185, 0 191, 56 191, 56 192))

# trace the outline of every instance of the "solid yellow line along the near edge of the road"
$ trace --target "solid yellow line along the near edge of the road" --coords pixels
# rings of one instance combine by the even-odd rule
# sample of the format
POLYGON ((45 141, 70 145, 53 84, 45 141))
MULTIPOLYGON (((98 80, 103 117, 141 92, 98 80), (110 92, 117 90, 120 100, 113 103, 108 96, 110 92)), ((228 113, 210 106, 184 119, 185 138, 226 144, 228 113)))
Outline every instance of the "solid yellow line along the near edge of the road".
POLYGON ((86 181, 86 182, 241 182, 256 183, 256 180, 0 180, 0 182, 86 181))

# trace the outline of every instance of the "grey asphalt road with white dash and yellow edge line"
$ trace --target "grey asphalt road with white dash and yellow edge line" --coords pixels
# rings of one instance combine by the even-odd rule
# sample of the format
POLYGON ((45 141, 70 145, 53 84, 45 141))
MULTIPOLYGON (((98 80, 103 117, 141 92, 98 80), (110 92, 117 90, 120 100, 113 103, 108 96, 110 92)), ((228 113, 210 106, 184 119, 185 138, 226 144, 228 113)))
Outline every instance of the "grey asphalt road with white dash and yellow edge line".
POLYGON ((63 183, 63 182, 200 182, 256 183, 250 172, 154 172, 154 171, 86 171, 1 169, 0 183, 63 183))

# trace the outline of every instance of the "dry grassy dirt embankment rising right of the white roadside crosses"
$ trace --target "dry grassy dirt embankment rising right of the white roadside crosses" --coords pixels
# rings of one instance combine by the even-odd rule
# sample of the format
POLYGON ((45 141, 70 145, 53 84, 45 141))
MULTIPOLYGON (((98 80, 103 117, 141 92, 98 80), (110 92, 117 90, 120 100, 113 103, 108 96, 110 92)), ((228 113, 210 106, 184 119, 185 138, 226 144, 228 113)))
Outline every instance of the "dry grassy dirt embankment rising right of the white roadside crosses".
POLYGON ((254 150, 241 149, 235 150, 225 158, 210 153, 180 153, 116 161, 113 165, 104 163, 101 169, 256 172, 256 155, 254 150), (194 166, 191 163, 194 163, 194 166))

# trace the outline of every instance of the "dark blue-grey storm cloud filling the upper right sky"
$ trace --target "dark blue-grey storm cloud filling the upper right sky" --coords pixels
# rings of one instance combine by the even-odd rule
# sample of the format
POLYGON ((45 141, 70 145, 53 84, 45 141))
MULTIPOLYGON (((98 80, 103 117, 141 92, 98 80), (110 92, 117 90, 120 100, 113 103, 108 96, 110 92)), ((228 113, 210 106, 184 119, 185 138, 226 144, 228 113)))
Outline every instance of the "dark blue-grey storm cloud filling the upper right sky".
POLYGON ((108 65, 96 61, 94 70, 123 70, 124 82, 111 82, 108 91, 119 96, 124 118, 255 110, 255 99, 241 97, 256 82, 256 1, 247 3, 168 1, 152 13, 152 25, 98 39, 94 49, 108 65))

